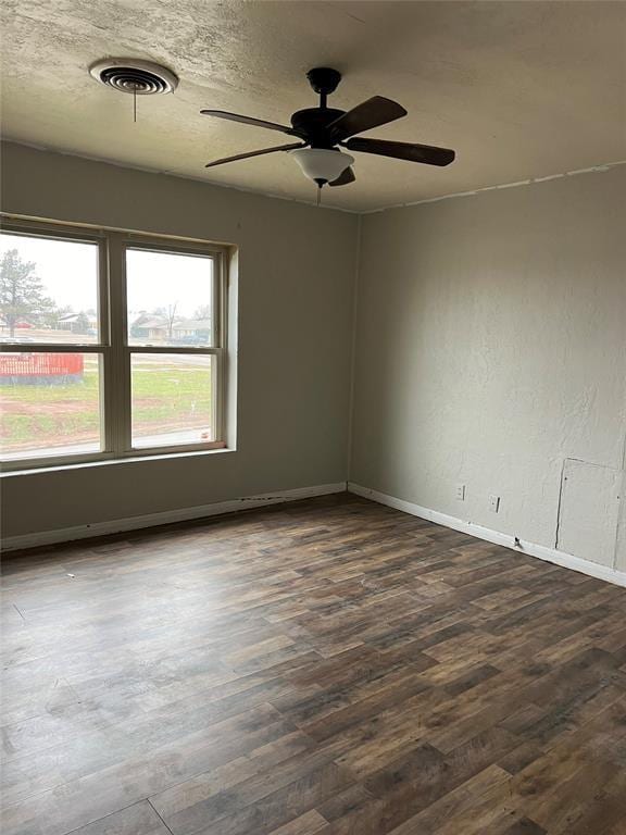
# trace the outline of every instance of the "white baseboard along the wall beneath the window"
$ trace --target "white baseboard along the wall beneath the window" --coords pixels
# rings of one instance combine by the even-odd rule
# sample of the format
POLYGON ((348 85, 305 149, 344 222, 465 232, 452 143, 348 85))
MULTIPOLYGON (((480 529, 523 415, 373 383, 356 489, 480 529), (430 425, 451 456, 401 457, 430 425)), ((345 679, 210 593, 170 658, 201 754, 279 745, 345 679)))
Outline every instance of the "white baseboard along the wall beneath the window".
POLYGON ((298 487, 292 490, 276 490, 274 493, 246 496, 228 501, 217 501, 211 504, 199 504, 193 508, 180 508, 179 510, 166 510, 161 513, 147 513, 142 516, 115 519, 111 522, 93 522, 89 525, 61 527, 55 531, 41 531, 36 534, 24 534, 23 536, 9 536, 2 540, 2 550, 16 551, 25 548, 38 548, 46 545, 70 543, 75 539, 88 539, 93 536, 121 534, 127 531, 139 531, 143 527, 167 525, 173 522, 187 522, 192 519, 204 519, 206 516, 216 516, 224 513, 234 513, 238 510, 261 508, 266 507, 267 504, 279 504, 286 501, 298 501, 298 499, 309 499, 314 496, 328 496, 333 493, 345 493, 346 487, 346 482, 318 484, 313 487, 298 487))

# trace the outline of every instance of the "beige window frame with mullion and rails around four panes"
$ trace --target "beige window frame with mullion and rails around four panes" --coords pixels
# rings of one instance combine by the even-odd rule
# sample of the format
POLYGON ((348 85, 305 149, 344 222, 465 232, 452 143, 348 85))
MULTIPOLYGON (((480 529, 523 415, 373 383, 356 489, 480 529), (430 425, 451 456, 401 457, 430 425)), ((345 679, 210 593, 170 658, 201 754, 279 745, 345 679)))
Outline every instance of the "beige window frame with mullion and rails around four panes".
POLYGON ((2 216, 2 232, 75 240, 98 246, 98 341, 97 342, 2 342, 0 352, 16 353, 95 353, 100 357, 100 444, 95 452, 39 456, 0 460, 0 471, 10 473, 189 454, 226 448, 226 378, 228 322, 229 248, 206 241, 133 233, 110 228, 90 228, 2 216), (127 333, 126 251, 149 250, 193 254, 213 262, 211 346, 130 345, 127 333), (132 445, 132 356, 138 353, 211 356, 212 425, 215 440, 199 444, 133 447, 132 445))

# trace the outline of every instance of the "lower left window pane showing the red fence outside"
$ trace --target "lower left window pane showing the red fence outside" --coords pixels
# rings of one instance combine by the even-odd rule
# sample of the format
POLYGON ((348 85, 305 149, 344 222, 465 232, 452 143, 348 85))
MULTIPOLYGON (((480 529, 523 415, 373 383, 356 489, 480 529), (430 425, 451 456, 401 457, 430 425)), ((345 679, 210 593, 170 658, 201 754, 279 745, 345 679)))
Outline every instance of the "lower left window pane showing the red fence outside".
POLYGON ((4 460, 100 449, 98 354, 0 353, 4 460))

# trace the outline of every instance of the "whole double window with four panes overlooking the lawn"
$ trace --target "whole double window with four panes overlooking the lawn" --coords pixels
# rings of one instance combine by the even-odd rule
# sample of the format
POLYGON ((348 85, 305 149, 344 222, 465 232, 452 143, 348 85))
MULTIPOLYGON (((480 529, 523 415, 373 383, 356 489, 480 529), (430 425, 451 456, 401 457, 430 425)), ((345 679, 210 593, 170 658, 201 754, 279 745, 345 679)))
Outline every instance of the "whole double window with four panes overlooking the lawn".
POLYGON ((225 267, 192 241, 4 226, 3 469, 224 447, 225 267))

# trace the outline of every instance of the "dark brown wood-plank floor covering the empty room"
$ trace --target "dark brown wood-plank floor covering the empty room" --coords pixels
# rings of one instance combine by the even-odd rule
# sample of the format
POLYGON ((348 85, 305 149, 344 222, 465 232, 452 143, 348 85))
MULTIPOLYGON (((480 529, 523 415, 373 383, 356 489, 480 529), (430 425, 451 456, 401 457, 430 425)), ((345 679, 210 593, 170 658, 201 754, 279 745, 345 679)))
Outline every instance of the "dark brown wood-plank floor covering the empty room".
POLYGON ((626 833, 626 591, 354 497, 8 559, 3 835, 626 833))

